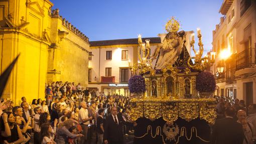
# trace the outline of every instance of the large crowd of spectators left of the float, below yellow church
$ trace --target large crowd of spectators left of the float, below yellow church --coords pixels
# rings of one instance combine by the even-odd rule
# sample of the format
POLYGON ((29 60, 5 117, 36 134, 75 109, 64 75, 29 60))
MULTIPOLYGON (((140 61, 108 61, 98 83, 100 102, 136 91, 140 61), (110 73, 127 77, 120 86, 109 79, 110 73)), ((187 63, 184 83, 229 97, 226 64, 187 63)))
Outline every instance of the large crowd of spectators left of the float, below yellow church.
POLYGON ((53 82, 46 84, 45 100, 1 102, 0 143, 123 143, 123 135, 134 132, 129 107, 130 97, 53 82))

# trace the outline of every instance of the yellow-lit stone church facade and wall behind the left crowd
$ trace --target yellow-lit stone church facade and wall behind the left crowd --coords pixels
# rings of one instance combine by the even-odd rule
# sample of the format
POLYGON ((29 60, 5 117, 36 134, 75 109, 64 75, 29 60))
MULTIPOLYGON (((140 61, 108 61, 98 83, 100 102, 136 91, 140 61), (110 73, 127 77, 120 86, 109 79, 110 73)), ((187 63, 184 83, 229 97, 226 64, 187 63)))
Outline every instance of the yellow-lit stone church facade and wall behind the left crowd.
POLYGON ((88 38, 52 7, 48 0, 0 2, 1 73, 20 54, 4 91, 15 104, 44 98, 45 83, 88 84, 88 38))

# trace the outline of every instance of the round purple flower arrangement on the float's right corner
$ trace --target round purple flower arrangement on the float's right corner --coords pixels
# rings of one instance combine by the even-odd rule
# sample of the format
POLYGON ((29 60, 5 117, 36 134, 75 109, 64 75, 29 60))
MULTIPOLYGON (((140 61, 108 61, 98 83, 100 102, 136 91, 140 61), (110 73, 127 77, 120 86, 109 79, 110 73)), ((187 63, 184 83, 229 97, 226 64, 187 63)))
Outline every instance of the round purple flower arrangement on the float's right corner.
POLYGON ((201 72, 196 77, 196 90, 199 92, 214 92, 216 89, 215 78, 210 72, 201 72))

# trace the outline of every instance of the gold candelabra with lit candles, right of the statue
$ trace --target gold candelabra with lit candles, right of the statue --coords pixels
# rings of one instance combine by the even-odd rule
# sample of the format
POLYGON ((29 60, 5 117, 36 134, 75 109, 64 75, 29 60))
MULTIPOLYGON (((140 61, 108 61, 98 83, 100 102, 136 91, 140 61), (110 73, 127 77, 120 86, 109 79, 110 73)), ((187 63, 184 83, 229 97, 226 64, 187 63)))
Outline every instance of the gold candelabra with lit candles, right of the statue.
POLYGON ((192 47, 192 50, 194 51, 195 56, 189 58, 188 66, 190 68, 202 71, 202 70, 205 70, 207 67, 212 66, 212 64, 215 61, 215 52, 211 52, 210 57, 208 57, 208 55, 205 55, 204 57, 202 57, 204 48, 203 48, 202 35, 201 35, 201 30, 200 29, 197 29, 197 37, 198 37, 198 40, 199 40, 199 42, 198 42, 199 50, 198 51, 195 50, 195 47, 194 47, 195 35, 192 34, 192 41, 190 42, 190 46, 192 47), (189 63, 191 59, 194 59, 194 62, 195 62, 194 65, 191 65, 189 63))

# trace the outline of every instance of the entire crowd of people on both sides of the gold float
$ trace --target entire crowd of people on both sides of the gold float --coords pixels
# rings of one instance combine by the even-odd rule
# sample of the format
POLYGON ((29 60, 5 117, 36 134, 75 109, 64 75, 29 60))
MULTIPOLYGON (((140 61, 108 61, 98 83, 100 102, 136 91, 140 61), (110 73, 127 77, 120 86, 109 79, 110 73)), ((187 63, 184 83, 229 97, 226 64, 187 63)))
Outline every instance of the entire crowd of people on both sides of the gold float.
MULTIPOLYGON (((45 99, 19 106, 0 103, 0 143, 84 144, 123 143, 123 135, 137 125, 130 118, 130 98, 105 95, 80 83, 53 82, 45 87, 45 99)), ((255 144, 256 104, 215 96, 217 119, 211 143, 255 144)))

